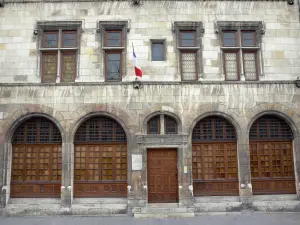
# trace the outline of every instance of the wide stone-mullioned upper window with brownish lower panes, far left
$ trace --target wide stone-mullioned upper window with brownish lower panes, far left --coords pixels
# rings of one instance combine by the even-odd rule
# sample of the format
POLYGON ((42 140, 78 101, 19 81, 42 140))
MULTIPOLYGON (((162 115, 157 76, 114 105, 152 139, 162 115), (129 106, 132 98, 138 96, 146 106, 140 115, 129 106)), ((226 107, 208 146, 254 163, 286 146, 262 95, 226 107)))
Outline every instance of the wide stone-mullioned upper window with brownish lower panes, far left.
POLYGON ((80 27, 81 22, 75 21, 38 22, 42 82, 75 81, 80 27))

